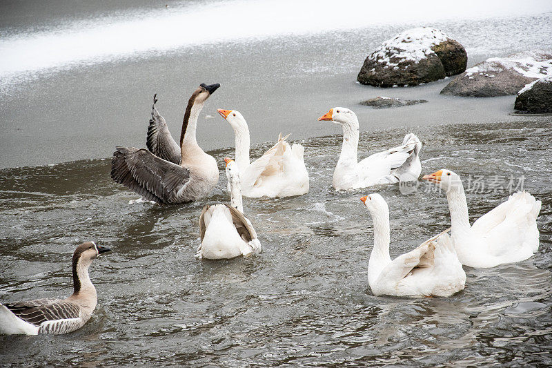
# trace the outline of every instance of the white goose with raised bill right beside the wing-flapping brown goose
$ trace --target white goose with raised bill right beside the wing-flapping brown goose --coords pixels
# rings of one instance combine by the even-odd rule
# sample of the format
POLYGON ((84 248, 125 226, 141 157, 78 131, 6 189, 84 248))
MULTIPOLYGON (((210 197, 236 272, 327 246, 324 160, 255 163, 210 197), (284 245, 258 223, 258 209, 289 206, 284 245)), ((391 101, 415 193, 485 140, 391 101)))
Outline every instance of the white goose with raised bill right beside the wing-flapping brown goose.
POLYGON ((291 197, 308 193, 308 172, 304 162, 305 148, 290 146, 282 134, 278 142, 254 162, 249 161, 249 128, 237 110, 217 110, 235 133, 236 164, 246 197, 291 197))

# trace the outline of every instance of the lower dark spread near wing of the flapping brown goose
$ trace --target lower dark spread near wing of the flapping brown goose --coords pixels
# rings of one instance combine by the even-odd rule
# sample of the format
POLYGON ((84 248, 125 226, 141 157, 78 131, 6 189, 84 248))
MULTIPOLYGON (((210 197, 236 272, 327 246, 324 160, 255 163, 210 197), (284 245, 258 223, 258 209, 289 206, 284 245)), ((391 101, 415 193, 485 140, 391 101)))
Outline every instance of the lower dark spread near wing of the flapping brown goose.
POLYGON ((111 177, 146 200, 177 203, 190 181, 190 171, 153 155, 146 149, 117 147, 111 159, 111 177))

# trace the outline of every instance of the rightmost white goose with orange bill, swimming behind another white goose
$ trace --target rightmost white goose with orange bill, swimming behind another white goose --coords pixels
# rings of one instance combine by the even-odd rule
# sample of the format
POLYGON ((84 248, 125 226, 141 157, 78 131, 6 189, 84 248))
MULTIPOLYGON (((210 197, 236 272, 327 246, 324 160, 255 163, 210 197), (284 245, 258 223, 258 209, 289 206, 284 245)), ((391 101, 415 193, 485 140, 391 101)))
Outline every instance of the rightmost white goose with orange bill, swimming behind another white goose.
POLYGON ((473 268, 496 267, 530 258, 539 248, 537 216, 541 202, 526 191, 479 217, 470 226, 468 202, 460 175, 442 169, 423 180, 446 191, 451 213, 451 238, 462 264, 473 268))

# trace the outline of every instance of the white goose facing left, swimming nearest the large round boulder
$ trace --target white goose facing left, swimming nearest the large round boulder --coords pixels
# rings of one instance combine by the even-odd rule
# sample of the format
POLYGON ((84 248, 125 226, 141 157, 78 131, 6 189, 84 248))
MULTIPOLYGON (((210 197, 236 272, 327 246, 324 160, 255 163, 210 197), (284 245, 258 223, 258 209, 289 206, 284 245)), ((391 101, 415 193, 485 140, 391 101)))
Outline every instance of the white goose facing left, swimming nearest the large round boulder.
POLYGON ((401 146, 374 153, 358 162, 359 127, 357 115, 348 108, 331 108, 318 120, 328 120, 343 128, 341 155, 333 171, 333 187, 337 191, 366 188, 417 180, 422 172, 422 142, 413 133, 404 137, 401 146))

